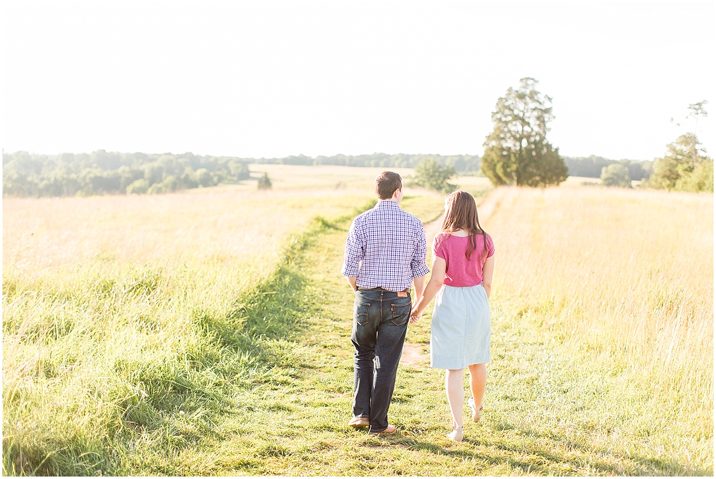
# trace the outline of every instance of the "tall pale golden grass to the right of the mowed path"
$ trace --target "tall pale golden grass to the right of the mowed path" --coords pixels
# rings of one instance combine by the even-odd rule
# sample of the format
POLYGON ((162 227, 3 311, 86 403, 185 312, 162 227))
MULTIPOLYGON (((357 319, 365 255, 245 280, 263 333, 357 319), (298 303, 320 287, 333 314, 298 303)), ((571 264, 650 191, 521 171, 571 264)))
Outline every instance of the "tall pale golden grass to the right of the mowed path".
POLYGON ((496 298, 710 437, 713 196, 563 186, 493 200, 496 298))

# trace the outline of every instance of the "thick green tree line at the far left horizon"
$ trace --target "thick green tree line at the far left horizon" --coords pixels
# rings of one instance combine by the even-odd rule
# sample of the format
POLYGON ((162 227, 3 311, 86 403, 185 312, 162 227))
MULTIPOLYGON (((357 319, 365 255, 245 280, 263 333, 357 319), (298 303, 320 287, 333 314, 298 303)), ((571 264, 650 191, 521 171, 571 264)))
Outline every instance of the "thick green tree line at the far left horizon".
POLYGON ((241 158, 192 153, 3 153, 3 194, 68 196, 169 191, 238 183, 249 178, 241 158))

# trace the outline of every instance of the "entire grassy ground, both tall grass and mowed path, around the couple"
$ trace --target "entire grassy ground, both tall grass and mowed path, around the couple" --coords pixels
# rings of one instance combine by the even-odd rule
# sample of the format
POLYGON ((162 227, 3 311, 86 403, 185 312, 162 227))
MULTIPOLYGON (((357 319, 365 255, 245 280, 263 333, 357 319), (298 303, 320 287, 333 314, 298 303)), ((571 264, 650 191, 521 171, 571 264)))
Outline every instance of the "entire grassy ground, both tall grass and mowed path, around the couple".
POLYGON ((399 433, 346 425, 339 268, 375 172, 253 166, 274 190, 4 200, 5 474, 712 475, 711 195, 491 193, 486 410, 454 445, 428 316, 399 433))

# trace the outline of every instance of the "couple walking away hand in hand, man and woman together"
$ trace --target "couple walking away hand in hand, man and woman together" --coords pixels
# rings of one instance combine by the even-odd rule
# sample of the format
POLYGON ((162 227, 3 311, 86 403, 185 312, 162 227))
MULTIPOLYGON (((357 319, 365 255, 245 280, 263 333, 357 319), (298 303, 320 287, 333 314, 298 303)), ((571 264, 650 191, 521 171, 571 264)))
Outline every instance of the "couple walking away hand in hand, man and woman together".
POLYGON ((384 171, 375 178, 378 203, 357 216, 348 232, 342 274, 355 291, 352 427, 376 434, 395 432, 388 407, 407 325, 420 320, 435 299, 430 323, 430 365, 446 369, 445 390, 453 430, 463 439, 463 373, 470 371, 468 405, 480 420, 490 361, 490 284, 494 268, 492 238, 478 221, 475 200, 465 191, 445 198, 445 217, 432 243, 432 275, 425 263, 426 242, 420 220, 400 208, 400 175, 384 171), (410 284, 418 300, 412 307, 410 284))

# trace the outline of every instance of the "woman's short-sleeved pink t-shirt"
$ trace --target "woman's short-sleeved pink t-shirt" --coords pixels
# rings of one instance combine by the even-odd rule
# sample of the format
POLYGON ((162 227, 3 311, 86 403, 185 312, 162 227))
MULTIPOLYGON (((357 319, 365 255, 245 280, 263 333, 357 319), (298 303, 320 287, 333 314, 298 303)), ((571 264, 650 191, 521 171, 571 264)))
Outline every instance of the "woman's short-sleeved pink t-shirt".
POLYGON ((483 266, 490 256, 495 254, 495 245, 490 235, 486 235, 488 253, 483 258, 485 243, 483 236, 475 236, 477 248, 470 254, 470 260, 465 258, 465 251, 470 246, 469 236, 453 236, 442 232, 435 235, 432 241, 432 254, 445 260, 445 281, 447 286, 475 286, 483 282, 483 266))

